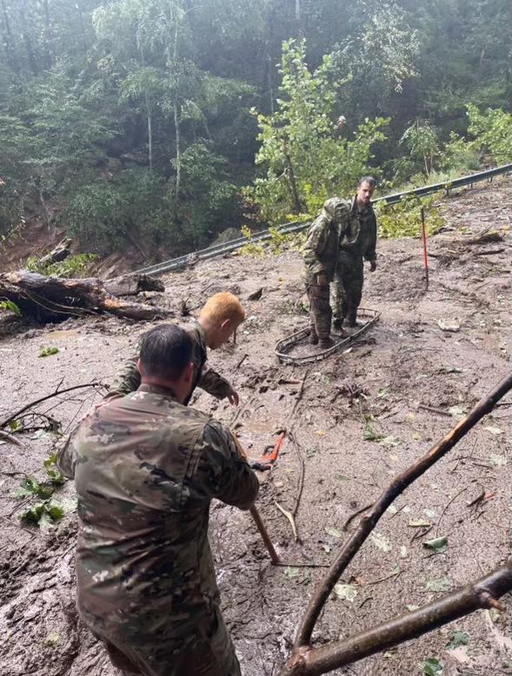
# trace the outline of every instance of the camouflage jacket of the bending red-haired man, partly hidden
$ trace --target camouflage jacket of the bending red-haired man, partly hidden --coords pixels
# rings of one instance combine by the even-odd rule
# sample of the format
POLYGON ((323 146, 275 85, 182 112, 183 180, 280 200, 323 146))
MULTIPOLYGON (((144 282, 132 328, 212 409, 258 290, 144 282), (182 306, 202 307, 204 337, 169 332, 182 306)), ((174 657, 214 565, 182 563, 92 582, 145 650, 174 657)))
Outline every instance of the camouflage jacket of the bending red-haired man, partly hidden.
MULTIPOLYGON (((183 329, 187 331, 193 341, 191 360, 195 365, 194 381, 189 395, 184 402, 185 405, 189 403, 193 391, 198 385, 209 394, 217 397, 217 399, 224 399, 224 397, 233 392, 233 387, 231 387, 231 384, 225 378, 206 365, 206 340, 201 324, 193 322, 193 324, 184 326, 183 329)), ((112 381, 105 397, 106 399, 124 396, 139 387, 141 375, 137 369, 137 360, 138 356, 127 359, 118 368, 114 381, 112 381)))

